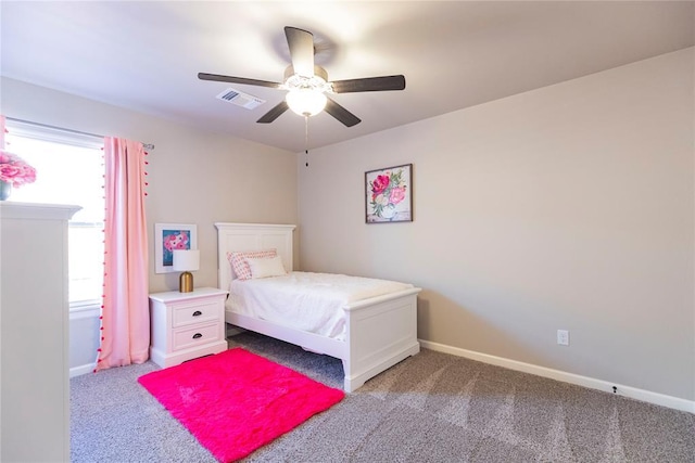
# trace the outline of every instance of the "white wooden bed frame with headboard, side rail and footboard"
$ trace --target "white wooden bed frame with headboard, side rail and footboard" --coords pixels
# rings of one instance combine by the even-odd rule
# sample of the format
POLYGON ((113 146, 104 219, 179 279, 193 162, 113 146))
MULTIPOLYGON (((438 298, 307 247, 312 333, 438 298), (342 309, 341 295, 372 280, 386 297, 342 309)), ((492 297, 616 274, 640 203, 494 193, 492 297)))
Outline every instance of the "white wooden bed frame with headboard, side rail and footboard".
MULTIPOLYGON (((292 270, 294 226, 215 223, 220 290, 229 290, 233 274, 227 253, 276 248, 287 270, 292 270)), ((244 330, 285 340, 343 362, 344 389, 361 387, 367 380, 420 351, 417 340, 417 294, 414 287, 346 305, 345 340, 336 340, 278 323, 225 311, 225 321, 244 330)))

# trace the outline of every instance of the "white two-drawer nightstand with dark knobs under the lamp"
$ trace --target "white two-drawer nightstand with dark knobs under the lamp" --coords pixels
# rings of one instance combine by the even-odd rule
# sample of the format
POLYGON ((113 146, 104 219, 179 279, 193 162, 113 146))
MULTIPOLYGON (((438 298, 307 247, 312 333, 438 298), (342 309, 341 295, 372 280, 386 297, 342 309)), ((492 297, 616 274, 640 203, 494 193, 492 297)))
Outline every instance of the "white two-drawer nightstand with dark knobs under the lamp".
POLYGON ((226 350, 226 297, 214 287, 150 294, 152 361, 167 368, 226 350))

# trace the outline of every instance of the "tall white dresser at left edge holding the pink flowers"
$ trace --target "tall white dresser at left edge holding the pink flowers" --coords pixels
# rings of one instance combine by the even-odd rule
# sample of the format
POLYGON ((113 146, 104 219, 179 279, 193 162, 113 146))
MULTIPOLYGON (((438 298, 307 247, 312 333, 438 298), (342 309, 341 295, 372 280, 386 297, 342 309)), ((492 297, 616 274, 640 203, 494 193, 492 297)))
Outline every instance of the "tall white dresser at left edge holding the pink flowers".
POLYGON ((70 461, 67 220, 0 202, 0 461, 70 461))

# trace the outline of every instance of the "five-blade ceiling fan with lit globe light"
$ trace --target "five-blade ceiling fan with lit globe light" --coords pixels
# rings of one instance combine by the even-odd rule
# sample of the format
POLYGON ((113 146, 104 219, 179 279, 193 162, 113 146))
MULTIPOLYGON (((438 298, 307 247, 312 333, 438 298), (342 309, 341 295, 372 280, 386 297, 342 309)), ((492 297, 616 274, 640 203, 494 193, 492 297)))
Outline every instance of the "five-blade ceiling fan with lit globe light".
POLYGON ((264 114, 257 120, 260 124, 274 121, 288 108, 305 117, 313 116, 326 110, 328 114, 346 127, 352 127, 359 124, 361 119, 327 97, 327 93, 355 93, 405 89, 405 77, 403 75, 329 81, 326 69, 314 64, 314 35, 307 30, 287 26, 285 27, 285 36, 290 47, 292 64, 285 69, 285 79, 282 82, 206 73, 199 73, 198 78, 201 80, 288 90, 286 99, 264 114))

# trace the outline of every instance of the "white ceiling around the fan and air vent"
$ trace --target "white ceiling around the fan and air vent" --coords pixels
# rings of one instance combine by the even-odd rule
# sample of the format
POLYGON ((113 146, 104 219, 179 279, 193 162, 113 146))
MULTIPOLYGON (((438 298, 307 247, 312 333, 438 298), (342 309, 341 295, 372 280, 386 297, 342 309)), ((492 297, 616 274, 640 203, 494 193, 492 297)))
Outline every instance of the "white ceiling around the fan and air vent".
POLYGON ((312 117, 317 147, 691 47, 694 3, 3 0, 1 75, 300 152, 302 117, 255 123, 283 91, 198 73, 280 81, 295 26, 330 80, 405 75, 404 91, 334 95, 363 121, 312 117), (215 99, 227 87, 267 102, 215 99))

